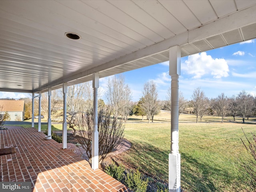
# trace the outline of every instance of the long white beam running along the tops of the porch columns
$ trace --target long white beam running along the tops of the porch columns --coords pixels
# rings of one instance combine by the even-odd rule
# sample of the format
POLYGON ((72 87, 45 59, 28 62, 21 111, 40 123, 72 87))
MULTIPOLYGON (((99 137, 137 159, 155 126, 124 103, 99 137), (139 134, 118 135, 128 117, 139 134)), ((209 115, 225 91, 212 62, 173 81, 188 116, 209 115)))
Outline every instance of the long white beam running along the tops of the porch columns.
POLYGON ((141 58, 145 58, 160 52, 164 52, 168 50, 172 46, 182 46, 188 43, 193 43, 199 40, 203 40, 209 38, 211 36, 219 35, 224 32, 232 31, 243 26, 247 26, 250 24, 256 23, 256 5, 250 8, 246 8, 244 10, 235 12, 234 14, 230 14, 228 16, 219 18, 213 22, 202 25, 198 28, 187 31, 183 34, 176 35, 172 38, 163 40, 116 60, 104 63, 100 66, 85 69, 79 73, 68 76, 67 78, 59 79, 51 84, 47 84, 41 86, 40 88, 33 90, 33 92, 38 92, 42 90, 46 90, 50 87, 58 86, 63 82, 70 82, 72 80, 76 80, 82 78, 84 76, 92 75, 94 72, 102 72, 104 70, 109 70, 111 68, 115 68, 117 66, 122 66, 132 61, 139 60, 141 58), (239 18, 239 19, 237 19, 239 18))

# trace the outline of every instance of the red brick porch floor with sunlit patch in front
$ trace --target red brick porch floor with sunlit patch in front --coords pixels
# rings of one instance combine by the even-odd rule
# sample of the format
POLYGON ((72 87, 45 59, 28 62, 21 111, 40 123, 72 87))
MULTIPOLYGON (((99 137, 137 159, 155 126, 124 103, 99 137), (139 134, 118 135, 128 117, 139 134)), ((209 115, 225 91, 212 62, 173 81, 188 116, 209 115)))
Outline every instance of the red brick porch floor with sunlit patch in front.
POLYGON ((44 136, 35 128, 0 130, 0 148, 16 148, 16 153, 0 156, 0 182, 31 182, 32 192, 131 192, 44 136))

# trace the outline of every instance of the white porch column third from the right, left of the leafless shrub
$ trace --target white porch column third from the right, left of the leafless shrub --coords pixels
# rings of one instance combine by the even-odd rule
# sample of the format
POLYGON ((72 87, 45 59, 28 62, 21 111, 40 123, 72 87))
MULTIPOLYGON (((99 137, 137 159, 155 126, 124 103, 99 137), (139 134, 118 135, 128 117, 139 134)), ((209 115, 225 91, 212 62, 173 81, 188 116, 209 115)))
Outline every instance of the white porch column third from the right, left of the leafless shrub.
POLYGON ((63 124, 62 124, 62 148, 67 148, 67 92, 68 84, 63 83, 63 124))

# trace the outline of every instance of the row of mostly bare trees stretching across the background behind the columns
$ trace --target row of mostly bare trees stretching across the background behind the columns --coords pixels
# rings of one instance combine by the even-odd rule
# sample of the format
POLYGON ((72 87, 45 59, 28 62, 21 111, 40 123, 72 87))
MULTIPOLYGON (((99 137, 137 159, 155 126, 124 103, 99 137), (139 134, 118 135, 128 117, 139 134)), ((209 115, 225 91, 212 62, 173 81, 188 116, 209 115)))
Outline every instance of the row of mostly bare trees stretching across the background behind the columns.
MULTIPOLYGON (((132 91, 125 78, 122 75, 113 76, 108 79, 106 91, 100 88, 98 91, 98 105, 108 106, 114 117, 127 120, 128 116, 142 116, 142 120, 146 118, 148 123, 153 122, 154 116, 160 110, 171 111, 171 88, 168 88, 166 100, 162 101, 158 98, 158 91, 154 81, 146 82, 142 89, 142 97, 138 102, 132 102, 132 91), (105 95, 106 101, 102 99, 105 95), (105 104, 106 102, 106 104, 105 104)), ((61 90, 52 91, 52 108, 51 114, 55 117, 63 115, 63 97, 61 90)), ((25 119, 31 118, 31 98, 25 98, 25 119)), ((93 104, 93 88, 92 82, 85 82, 68 87, 67 96, 67 121, 70 128, 74 127, 74 116, 82 109, 93 104)), ((42 94, 41 100, 42 114, 48 117, 48 94, 42 94)), ((207 98, 201 88, 196 88, 192 93, 191 100, 186 100, 179 92, 179 115, 188 113, 196 115, 196 122, 202 120, 205 115, 217 115, 222 117, 232 116, 234 121, 237 116, 242 116, 243 122, 246 118, 256 116, 256 98, 244 90, 237 95, 231 97, 225 96, 224 93, 218 95, 217 98, 207 98)), ((38 100, 35 101, 35 114, 38 114, 38 100)))

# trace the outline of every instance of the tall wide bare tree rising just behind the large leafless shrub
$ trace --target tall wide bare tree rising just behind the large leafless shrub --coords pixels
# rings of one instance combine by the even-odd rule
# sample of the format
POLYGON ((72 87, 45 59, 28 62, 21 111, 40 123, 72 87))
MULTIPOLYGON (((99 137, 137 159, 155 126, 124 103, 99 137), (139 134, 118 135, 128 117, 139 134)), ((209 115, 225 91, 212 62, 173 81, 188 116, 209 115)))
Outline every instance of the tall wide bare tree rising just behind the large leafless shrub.
POLYGON ((115 118, 121 116, 126 120, 129 115, 127 108, 131 107, 129 103, 132 92, 128 84, 125 84, 124 76, 113 76, 108 79, 106 98, 112 108, 113 116, 115 118))

